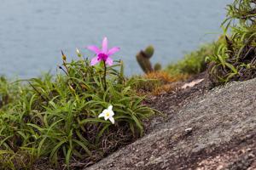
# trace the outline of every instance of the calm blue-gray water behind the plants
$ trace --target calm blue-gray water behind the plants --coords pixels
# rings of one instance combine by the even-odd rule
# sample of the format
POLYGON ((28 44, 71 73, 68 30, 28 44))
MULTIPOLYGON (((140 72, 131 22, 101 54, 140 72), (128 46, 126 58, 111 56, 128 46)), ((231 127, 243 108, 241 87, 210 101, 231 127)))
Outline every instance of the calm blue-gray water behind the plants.
MULTIPOLYGON (((0 74, 35 77, 56 71, 61 49, 75 56, 79 48, 100 45, 106 36, 119 46, 115 59, 127 75, 142 71, 135 54, 153 44, 153 62, 163 65, 221 33, 231 0, 1 0, 0 74)), ((69 58, 71 59, 71 58, 69 58)))

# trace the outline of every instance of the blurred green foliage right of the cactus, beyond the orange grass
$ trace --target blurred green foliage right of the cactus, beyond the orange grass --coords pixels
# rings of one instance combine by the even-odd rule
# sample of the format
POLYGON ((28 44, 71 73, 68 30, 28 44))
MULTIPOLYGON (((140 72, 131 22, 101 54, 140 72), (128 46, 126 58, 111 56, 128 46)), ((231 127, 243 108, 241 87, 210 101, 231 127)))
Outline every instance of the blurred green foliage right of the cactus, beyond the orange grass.
POLYGON ((171 75, 188 74, 195 75, 206 71, 207 63, 205 61, 208 55, 213 54, 215 42, 206 44, 198 50, 186 54, 183 59, 175 64, 168 65, 166 71, 171 75))

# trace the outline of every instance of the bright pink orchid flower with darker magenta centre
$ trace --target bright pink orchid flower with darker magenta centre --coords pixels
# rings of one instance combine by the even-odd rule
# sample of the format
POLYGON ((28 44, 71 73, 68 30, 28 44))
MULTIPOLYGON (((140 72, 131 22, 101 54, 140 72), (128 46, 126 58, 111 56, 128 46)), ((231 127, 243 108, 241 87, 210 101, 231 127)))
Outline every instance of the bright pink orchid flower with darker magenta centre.
POLYGON ((90 45, 87 47, 90 51, 96 53, 96 57, 91 59, 90 65, 96 65, 100 61, 106 62, 108 65, 113 65, 113 59, 110 58, 111 55, 119 51, 120 48, 114 47, 108 50, 108 38, 104 37, 102 41, 102 50, 97 48, 95 45, 90 45))

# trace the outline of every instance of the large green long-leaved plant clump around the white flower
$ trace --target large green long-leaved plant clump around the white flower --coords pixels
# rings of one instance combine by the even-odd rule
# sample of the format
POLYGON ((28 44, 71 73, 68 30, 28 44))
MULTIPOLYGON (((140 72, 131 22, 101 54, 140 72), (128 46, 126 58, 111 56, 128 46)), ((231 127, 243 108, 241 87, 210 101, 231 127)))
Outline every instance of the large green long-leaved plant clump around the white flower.
POLYGON ((45 160, 84 167, 143 135, 142 121, 155 111, 131 89, 135 80, 125 79, 121 62, 107 68, 107 77, 102 64, 89 63, 65 58, 60 68, 66 75, 23 85, 1 79, 1 168, 32 168, 45 160), (114 124, 98 118, 108 105, 114 124))

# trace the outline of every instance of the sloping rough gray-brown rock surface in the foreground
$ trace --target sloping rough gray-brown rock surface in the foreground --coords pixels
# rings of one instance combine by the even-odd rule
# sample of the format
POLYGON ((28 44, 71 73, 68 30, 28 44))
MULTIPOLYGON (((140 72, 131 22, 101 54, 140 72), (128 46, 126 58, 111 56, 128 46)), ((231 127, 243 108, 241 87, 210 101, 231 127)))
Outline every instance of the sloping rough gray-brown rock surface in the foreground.
POLYGON ((95 169, 256 169, 256 79, 192 99, 95 169))

